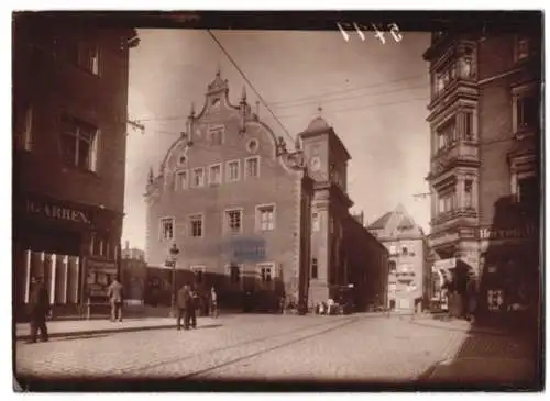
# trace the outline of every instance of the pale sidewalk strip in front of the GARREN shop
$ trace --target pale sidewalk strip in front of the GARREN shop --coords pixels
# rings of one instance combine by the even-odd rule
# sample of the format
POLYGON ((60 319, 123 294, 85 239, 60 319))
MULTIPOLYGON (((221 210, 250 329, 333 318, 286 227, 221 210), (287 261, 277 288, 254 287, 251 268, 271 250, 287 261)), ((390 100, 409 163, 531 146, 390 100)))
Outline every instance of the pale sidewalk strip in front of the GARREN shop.
MULTIPOLYGON (((219 319, 219 318, 218 318, 219 319)), ((212 324, 218 319, 198 316, 198 323, 212 324)), ((141 318, 125 319, 122 322, 105 320, 78 320, 78 321, 48 321, 47 332, 51 338, 87 336, 106 333, 136 332, 144 330, 175 328, 175 318, 141 318)), ((16 339, 30 339, 31 327, 29 323, 15 325, 16 339)))

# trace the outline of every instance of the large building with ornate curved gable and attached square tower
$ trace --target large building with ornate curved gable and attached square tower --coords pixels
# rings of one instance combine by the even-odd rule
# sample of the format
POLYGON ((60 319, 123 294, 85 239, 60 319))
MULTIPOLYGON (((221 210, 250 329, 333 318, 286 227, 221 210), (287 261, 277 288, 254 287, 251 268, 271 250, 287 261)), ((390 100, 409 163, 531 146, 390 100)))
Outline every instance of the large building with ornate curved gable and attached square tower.
POLYGON ((221 308, 240 308, 248 294, 256 310, 277 309, 285 297, 305 311, 350 283, 364 302, 369 275, 359 271, 382 269, 386 254, 366 231, 344 246, 356 223, 348 212, 349 158, 320 118, 288 151, 244 90, 239 105, 230 103, 218 73, 202 110, 191 108, 186 132, 150 174, 148 266, 164 266, 175 243, 176 287, 195 282, 207 293, 215 286, 221 308))

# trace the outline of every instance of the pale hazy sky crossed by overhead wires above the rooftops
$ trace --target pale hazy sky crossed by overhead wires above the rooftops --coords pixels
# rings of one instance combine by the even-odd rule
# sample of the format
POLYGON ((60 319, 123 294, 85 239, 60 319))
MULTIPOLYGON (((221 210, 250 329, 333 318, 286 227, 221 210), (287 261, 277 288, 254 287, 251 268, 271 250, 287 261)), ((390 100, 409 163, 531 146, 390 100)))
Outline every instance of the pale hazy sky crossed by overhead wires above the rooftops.
MULTIPOLYGON (((142 30, 131 51, 123 241, 144 248, 147 171, 158 165, 185 130, 191 102, 201 110, 218 67, 237 104, 245 80, 207 31, 142 30)), ((294 136, 321 115, 352 156, 349 191, 353 211, 374 221, 399 202, 428 230, 429 76, 421 54, 428 33, 404 32, 385 44, 365 32, 344 41, 338 32, 212 31, 226 51, 294 136)), ((248 87, 249 102, 257 97, 248 87)), ((260 116, 287 138, 266 108, 260 116)), ((293 146, 290 146, 292 148, 293 146)))

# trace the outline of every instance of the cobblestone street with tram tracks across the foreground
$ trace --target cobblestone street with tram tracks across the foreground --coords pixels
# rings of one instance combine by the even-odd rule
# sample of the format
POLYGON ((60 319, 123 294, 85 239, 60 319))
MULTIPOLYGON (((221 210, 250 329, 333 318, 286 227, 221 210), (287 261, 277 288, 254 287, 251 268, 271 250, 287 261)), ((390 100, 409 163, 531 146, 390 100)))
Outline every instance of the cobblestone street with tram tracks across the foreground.
MULTIPOLYGON (((202 325, 199 320, 188 332, 18 342, 16 371, 44 378, 413 382, 452 359, 466 338, 464 330, 415 324, 409 316, 233 315, 205 319, 202 325)), ((514 356, 520 349, 502 336, 470 343, 469 357, 514 356)))

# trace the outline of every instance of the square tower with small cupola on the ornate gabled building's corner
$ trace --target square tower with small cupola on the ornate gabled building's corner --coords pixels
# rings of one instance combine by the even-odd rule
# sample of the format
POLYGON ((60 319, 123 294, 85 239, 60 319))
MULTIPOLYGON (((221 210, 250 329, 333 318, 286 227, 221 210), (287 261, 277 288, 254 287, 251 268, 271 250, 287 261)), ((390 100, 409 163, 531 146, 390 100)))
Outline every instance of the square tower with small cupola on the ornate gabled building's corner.
POLYGON ((300 133, 308 175, 314 180, 309 305, 334 298, 348 285, 342 247, 343 221, 353 202, 348 197, 350 154, 334 130, 320 116, 300 133))

